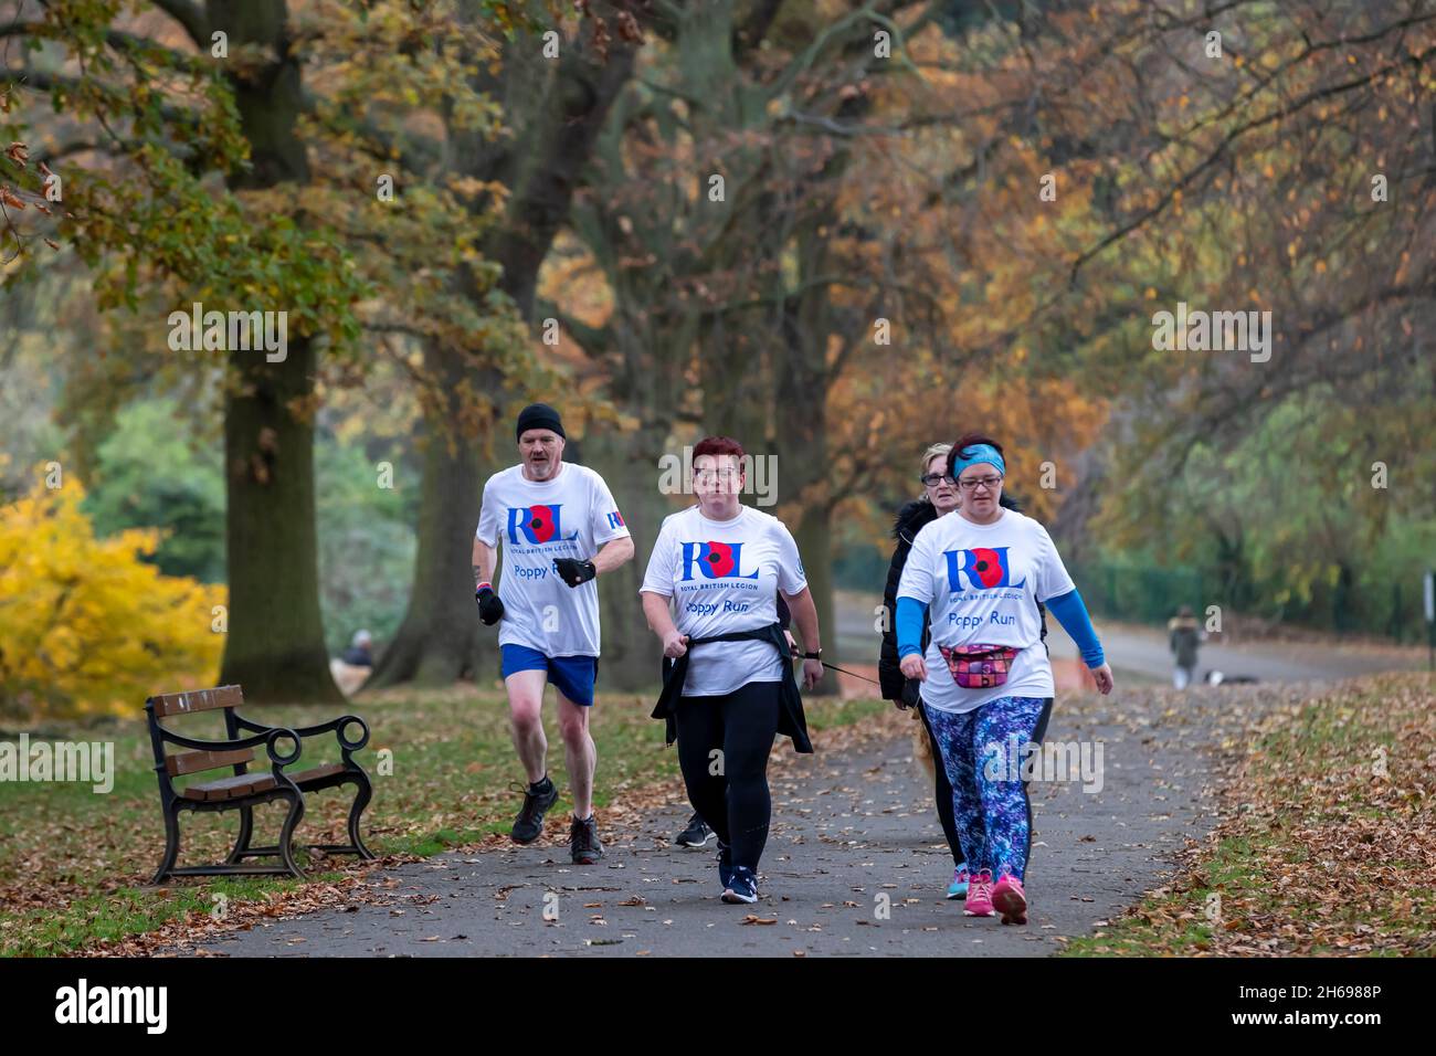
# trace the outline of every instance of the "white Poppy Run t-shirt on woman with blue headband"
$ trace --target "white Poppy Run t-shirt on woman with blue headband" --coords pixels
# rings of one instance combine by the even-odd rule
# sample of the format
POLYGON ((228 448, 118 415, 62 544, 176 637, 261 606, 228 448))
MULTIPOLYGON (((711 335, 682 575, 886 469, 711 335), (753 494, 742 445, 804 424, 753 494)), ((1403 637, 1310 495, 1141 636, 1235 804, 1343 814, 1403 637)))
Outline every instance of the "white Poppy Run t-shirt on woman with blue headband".
POLYGON ((899 598, 929 606, 923 703, 962 713, 998 697, 1051 697, 1053 665, 1037 602, 1071 589, 1047 529, 1015 510, 1002 510, 991 524, 974 524, 961 513, 925 524, 898 580, 899 598), (1002 685, 964 690, 942 658, 943 645, 1010 645, 1018 654, 1002 685))

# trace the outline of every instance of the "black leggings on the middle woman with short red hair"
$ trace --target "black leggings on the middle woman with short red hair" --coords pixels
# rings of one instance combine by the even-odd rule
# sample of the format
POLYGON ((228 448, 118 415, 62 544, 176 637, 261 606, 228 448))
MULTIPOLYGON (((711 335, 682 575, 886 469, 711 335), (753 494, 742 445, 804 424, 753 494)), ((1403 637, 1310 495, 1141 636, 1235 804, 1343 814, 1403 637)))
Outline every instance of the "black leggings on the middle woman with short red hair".
POLYGON ((684 697, 675 714, 688 800, 732 849, 732 863, 754 871, 773 815, 768 753, 778 733, 780 687, 747 682, 721 697, 684 697))

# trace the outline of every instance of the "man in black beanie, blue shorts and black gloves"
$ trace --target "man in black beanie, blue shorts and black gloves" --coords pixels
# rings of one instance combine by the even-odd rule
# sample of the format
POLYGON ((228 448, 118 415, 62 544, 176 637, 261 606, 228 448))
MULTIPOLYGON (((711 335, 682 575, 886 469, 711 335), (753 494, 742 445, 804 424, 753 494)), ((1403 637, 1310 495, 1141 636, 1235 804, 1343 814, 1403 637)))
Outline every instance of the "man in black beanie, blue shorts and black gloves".
POLYGON ((480 619, 500 624, 514 747, 528 777, 511 835, 516 843, 538 839, 544 813, 559 799, 546 766, 541 718, 544 685, 553 682, 573 787, 570 852, 576 863, 593 865, 603 856, 593 816, 596 751, 589 736, 599 670, 593 580, 629 560, 633 540, 603 477, 586 466, 564 464, 557 411, 530 404, 516 432, 520 464, 485 481, 474 533, 474 596, 480 619), (491 578, 500 537, 504 575, 495 592, 491 578))

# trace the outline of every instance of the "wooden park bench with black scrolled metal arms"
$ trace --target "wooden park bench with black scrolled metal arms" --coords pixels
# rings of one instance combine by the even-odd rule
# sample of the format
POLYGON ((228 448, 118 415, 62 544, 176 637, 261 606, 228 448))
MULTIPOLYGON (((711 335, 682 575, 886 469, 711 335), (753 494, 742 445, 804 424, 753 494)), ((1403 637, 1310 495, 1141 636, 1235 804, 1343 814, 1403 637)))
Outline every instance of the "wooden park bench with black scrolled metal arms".
POLYGON ((238 685, 221 685, 214 690, 191 693, 165 693, 145 701, 149 717, 149 740, 155 750, 155 773, 159 777, 159 805, 165 815, 165 856, 155 874, 155 884, 167 876, 224 876, 233 874, 267 875, 287 874, 303 876, 294 862, 294 828, 304 816, 304 793, 329 789, 336 784, 353 784, 358 792, 349 807, 348 843, 310 843, 312 851, 329 853, 350 853, 373 858, 373 853, 359 838, 359 816, 369 805, 372 786, 369 774, 353 760, 353 753, 369 743, 369 726, 358 715, 340 715, 319 726, 287 728, 266 726, 240 714, 244 693, 238 685), (211 741, 185 737, 167 728, 161 720, 174 715, 188 715, 200 711, 224 710, 224 728, 228 740, 211 741), (360 736, 350 740, 346 728, 358 724, 360 736), (316 766, 297 773, 289 772, 299 761, 303 738, 333 733, 339 740, 343 763, 316 766), (244 736, 248 734, 248 736, 244 736), (165 744, 174 744, 188 751, 165 753, 165 744), (250 773, 254 749, 264 746, 269 769, 250 773), (177 789, 175 777, 234 767, 227 777, 190 784, 177 789), (254 830, 254 807, 271 800, 286 800, 289 813, 280 832, 279 843, 273 846, 250 846, 254 830), (238 810, 240 835, 224 862, 175 868, 180 855, 180 812, 181 810, 238 810), (276 865, 246 865, 246 858, 279 858, 276 865))

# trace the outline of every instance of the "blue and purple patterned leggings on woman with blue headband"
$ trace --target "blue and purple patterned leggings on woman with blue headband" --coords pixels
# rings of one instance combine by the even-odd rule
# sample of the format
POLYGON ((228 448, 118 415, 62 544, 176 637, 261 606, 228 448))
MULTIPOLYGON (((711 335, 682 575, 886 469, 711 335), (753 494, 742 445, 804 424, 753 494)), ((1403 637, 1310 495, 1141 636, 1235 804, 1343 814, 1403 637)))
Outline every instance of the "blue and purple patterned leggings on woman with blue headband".
POLYGON ((1028 741, 1040 744, 1051 711, 1051 697, 998 697, 962 714, 928 708, 971 874, 1027 872, 1032 805, 1021 780, 1025 754, 1014 756, 1012 746, 1021 753, 1028 741))

